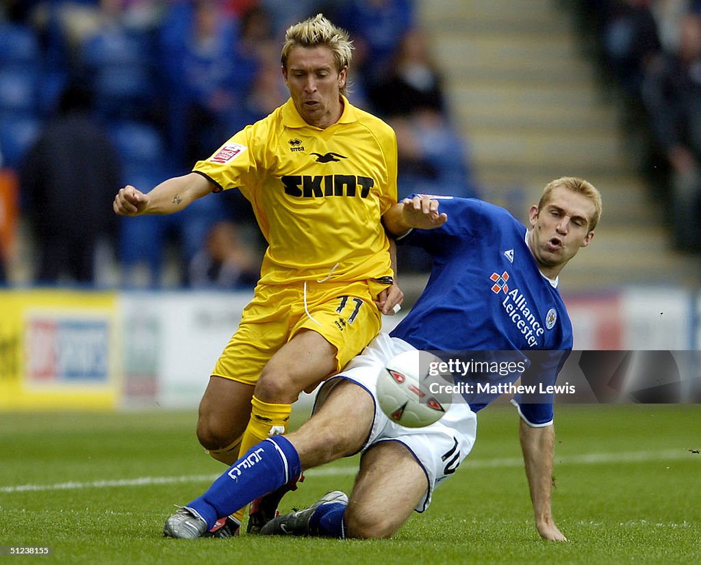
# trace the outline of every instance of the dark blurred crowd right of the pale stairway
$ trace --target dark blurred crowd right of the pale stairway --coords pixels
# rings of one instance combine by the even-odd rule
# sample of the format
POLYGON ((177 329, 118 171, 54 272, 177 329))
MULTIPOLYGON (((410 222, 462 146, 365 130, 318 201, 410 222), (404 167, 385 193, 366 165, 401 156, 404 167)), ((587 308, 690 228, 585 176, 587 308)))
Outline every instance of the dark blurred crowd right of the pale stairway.
POLYGON ((701 1, 565 0, 680 251, 701 251, 701 1))

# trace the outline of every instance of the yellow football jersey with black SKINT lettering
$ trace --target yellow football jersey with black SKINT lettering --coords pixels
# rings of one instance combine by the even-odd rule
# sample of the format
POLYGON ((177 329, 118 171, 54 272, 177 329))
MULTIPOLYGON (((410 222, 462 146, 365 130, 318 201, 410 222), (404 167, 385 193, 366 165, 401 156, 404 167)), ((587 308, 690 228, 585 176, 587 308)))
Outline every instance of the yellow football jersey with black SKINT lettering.
POLYGON ((343 103, 339 121, 320 130, 290 99, 193 169, 251 202, 268 242, 261 283, 392 274, 380 217, 397 202, 397 139, 343 103))

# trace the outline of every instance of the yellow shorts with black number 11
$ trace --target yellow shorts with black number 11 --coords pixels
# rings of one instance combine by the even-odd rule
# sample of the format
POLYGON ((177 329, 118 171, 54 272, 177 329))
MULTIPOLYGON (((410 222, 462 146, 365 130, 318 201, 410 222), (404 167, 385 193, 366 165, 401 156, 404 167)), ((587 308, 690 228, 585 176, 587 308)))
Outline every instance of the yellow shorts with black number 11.
POLYGON ((336 347, 338 372, 379 333, 381 313, 374 299, 387 286, 374 280, 308 282, 306 297, 303 283, 257 286, 212 375, 256 384, 268 360, 303 328, 336 347))

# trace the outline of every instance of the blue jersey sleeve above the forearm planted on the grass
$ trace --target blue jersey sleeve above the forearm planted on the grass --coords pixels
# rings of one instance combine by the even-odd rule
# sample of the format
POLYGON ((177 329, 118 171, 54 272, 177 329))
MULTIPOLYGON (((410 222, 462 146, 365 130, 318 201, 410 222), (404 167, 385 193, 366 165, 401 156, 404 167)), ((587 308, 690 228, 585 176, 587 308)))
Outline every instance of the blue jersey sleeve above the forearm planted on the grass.
POLYGON ((534 428, 551 426, 554 418, 553 403, 557 375, 569 358, 571 350, 531 351, 529 368, 521 377, 521 384, 528 393, 518 393, 511 401, 519 416, 534 428))

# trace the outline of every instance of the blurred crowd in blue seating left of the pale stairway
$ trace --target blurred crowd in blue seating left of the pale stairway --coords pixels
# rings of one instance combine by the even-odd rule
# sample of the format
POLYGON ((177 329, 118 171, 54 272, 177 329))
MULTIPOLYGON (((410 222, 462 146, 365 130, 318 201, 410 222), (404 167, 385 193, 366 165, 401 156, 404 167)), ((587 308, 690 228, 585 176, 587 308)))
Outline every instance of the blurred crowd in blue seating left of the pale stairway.
MULTIPOLYGON (((121 286, 161 285, 169 248, 179 284, 254 284, 264 242, 238 191, 173 216, 116 218, 111 200, 125 183, 149 190, 189 172, 283 104, 285 29, 318 12, 354 39, 351 102, 397 131, 400 197, 477 194, 411 0, 4 0, 0 10, 0 246, 12 253, 18 216, 27 221, 35 283, 94 284, 102 242, 121 286)), ((421 261, 407 256, 404 268, 421 261)))

